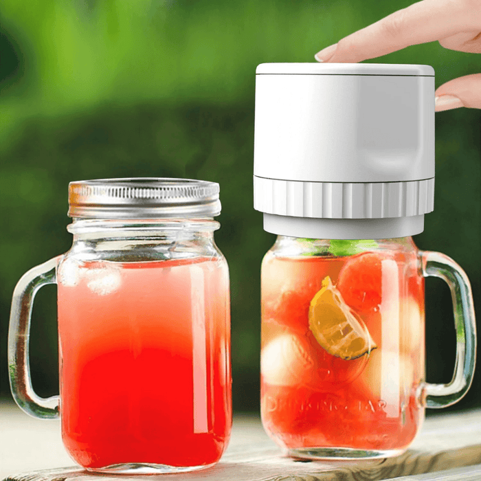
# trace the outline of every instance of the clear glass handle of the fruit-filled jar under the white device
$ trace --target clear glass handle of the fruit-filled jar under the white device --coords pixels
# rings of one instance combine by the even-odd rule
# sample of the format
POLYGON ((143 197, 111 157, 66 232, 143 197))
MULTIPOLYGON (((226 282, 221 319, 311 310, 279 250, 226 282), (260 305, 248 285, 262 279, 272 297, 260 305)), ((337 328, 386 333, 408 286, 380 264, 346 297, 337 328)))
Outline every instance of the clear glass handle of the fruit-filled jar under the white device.
POLYGON ((454 376, 448 384, 423 385, 426 407, 446 407, 457 403, 469 390, 476 363, 476 322, 473 294, 469 279, 461 267, 445 254, 419 253, 424 277, 438 277, 451 290, 456 328, 456 363, 454 376))

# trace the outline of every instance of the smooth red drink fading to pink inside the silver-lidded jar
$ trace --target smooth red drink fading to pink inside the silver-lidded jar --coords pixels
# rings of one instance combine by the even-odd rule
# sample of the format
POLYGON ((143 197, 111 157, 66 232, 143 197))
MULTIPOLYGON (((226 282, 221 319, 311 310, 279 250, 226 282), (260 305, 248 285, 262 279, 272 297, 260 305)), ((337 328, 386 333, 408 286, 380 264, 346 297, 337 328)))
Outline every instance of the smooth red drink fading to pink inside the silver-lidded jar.
POLYGON ((67 259, 58 273, 71 456, 90 469, 219 460, 232 415, 225 260, 67 259))

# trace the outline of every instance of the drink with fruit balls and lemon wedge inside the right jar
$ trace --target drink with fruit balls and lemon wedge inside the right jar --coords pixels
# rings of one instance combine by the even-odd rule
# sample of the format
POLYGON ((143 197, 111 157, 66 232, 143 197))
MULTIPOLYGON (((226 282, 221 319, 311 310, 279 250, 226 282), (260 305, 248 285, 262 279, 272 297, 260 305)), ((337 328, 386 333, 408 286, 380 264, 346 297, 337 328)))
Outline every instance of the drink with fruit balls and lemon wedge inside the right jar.
POLYGON ((342 253, 303 243, 315 245, 280 236, 262 262, 262 423, 292 456, 399 453, 424 414, 416 256, 389 243, 342 253))

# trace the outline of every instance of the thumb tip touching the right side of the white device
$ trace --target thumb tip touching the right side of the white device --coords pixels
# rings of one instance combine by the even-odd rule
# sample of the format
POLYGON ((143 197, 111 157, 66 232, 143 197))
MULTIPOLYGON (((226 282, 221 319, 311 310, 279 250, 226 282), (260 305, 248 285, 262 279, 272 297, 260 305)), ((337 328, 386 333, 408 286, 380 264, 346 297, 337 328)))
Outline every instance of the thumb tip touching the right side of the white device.
POLYGON ((449 80, 436 90, 436 112, 458 107, 481 109, 481 74, 449 80))

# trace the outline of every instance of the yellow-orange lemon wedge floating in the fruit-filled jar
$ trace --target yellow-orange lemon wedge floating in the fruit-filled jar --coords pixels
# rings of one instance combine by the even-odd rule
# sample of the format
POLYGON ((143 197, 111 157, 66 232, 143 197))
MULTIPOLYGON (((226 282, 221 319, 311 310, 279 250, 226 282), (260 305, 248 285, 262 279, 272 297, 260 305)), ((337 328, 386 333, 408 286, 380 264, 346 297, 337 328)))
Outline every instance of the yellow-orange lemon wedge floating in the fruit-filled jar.
POLYGON ((329 276, 311 300, 309 328, 329 354, 342 359, 355 359, 377 348, 368 328, 349 309, 329 276))

